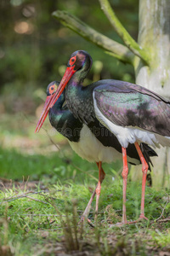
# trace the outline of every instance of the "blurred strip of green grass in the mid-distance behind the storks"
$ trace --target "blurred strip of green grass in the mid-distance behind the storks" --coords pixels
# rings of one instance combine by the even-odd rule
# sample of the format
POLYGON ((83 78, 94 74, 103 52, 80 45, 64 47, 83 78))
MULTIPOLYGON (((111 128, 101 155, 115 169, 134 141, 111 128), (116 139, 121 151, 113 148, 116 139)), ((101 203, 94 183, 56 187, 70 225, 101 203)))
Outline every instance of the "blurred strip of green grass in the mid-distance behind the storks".
MULTIPOLYGON (((107 173, 112 173, 111 166, 106 164, 103 166, 107 173)), ((121 164, 116 163, 112 166, 117 168, 121 164)), ((97 166, 82 160, 68 147, 58 153, 52 152, 46 156, 21 154, 14 148, 4 149, 0 147, 0 173, 1 177, 8 179, 22 181, 23 177, 25 179, 29 177, 29 180, 44 178, 44 182, 49 181, 50 183, 56 183, 59 179, 62 179, 62 182, 73 179, 76 183, 82 183, 98 178, 97 166)))

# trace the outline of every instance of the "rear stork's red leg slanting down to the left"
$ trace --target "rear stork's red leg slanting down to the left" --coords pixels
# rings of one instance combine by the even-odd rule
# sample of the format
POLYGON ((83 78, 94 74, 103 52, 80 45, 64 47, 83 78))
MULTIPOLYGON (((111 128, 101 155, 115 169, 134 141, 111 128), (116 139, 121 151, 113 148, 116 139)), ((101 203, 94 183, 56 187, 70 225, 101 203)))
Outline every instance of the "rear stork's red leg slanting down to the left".
MULTIPOLYGON (((104 172, 104 170, 103 170, 103 168, 102 168, 102 166, 101 166, 101 165, 102 165, 101 162, 96 162, 96 164, 97 164, 98 168, 100 167, 100 171, 99 171, 99 172, 100 172, 100 185, 101 185, 101 183, 103 182, 103 180, 104 180, 104 178, 105 178, 105 172, 104 172)), ((84 220, 84 218, 87 218, 87 217, 88 217, 88 212, 89 212, 89 210, 90 210, 92 201, 94 200, 94 196, 96 195, 96 189, 98 188, 98 185, 99 185, 99 183, 97 184, 97 186, 96 186, 96 188, 94 189, 94 192, 93 192, 93 194, 92 194, 90 200, 88 201, 88 206, 86 207, 85 211, 82 213, 82 218, 81 218, 82 221, 84 220)), ((90 220, 89 220, 89 219, 88 219, 88 222, 90 223, 90 220)))

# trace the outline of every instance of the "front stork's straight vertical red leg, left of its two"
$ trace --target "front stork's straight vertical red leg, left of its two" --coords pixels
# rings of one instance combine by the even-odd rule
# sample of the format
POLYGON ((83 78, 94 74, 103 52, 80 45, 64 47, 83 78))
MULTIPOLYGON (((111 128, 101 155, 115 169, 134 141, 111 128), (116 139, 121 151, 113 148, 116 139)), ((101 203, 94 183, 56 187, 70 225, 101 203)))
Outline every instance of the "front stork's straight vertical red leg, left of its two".
POLYGON ((123 170, 122 170, 122 178, 123 178, 123 186, 122 186, 122 224, 127 224, 126 200, 127 200, 128 166, 127 166, 127 150, 126 150, 126 148, 122 148, 122 161, 123 161, 123 170))

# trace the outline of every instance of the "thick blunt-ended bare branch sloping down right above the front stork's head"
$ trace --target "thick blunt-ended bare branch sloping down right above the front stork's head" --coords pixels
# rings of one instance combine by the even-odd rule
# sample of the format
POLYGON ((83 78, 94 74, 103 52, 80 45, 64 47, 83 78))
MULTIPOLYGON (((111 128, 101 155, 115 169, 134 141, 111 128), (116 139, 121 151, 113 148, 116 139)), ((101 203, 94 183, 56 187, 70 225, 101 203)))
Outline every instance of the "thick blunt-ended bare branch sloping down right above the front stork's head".
POLYGON ((67 13, 66 11, 55 11, 53 16, 58 19, 64 26, 69 27, 74 32, 77 32, 82 38, 98 45, 105 49, 107 53, 113 55, 123 62, 133 64, 133 53, 124 45, 117 43, 111 38, 107 38, 103 34, 95 31, 92 27, 79 20, 77 17, 67 13))

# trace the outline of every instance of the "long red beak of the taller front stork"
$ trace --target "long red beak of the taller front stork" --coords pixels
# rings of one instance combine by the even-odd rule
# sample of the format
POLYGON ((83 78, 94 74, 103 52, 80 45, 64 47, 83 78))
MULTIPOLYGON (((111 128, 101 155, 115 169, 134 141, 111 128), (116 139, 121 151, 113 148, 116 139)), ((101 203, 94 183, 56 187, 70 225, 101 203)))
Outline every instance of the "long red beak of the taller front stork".
POLYGON ((66 68, 65 74, 60 81, 58 89, 54 93, 54 96, 53 96, 52 102, 50 102, 49 108, 52 108, 54 106, 54 103, 57 102, 57 100, 59 99, 59 96, 61 95, 63 90, 65 90, 65 86, 71 79, 71 76, 77 71, 77 70, 74 70, 74 67, 75 66, 66 68))

